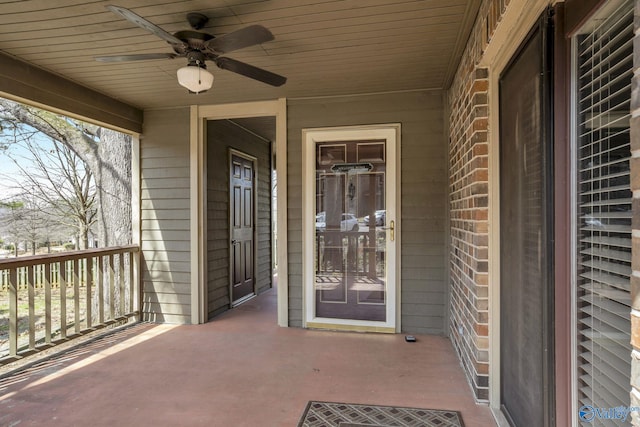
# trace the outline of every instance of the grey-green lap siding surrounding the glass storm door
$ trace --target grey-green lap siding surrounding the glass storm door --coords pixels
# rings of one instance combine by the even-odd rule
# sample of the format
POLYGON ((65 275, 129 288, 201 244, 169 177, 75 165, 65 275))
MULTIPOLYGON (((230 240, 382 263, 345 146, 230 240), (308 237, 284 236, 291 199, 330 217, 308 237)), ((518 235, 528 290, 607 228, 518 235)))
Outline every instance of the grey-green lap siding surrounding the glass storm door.
POLYGON ((401 123, 402 330, 445 333, 447 146, 440 91, 289 100, 289 324, 302 326, 302 129, 401 123))

